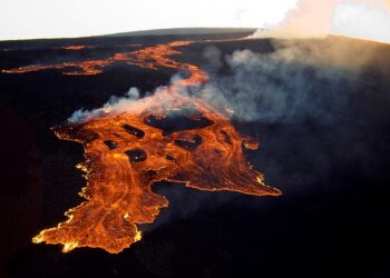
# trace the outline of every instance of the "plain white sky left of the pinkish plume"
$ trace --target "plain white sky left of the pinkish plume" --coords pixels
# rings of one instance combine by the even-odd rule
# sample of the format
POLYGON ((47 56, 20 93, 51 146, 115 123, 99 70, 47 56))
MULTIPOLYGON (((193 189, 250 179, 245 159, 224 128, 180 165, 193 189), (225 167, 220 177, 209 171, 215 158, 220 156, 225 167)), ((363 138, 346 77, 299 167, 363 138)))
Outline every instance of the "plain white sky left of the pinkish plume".
POLYGON ((0 40, 178 27, 263 27, 296 0, 0 0, 0 40))

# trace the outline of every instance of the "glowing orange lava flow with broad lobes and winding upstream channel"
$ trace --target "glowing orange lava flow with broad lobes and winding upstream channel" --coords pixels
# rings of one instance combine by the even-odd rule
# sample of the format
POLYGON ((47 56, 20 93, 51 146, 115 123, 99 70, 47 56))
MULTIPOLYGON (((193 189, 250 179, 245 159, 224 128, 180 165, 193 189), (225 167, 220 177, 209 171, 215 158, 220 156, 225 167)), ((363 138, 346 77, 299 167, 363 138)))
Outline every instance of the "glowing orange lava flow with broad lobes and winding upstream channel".
POLYGON ((80 192, 86 201, 66 212, 67 221, 42 230, 33 242, 61 244, 62 251, 97 247, 120 252, 142 238, 137 225, 153 222, 168 206, 165 197, 152 191, 159 180, 209 191, 281 193, 266 186, 245 160, 243 147, 255 149, 257 145, 240 135, 225 113, 179 92, 208 79, 196 66, 169 58, 179 53, 175 47, 188 43, 118 53, 88 68, 97 70, 95 67, 126 60, 144 68, 186 70, 189 77, 153 96, 128 101, 125 110, 105 107, 79 122, 53 128, 60 139, 84 146, 86 160, 78 168, 87 180, 80 192))

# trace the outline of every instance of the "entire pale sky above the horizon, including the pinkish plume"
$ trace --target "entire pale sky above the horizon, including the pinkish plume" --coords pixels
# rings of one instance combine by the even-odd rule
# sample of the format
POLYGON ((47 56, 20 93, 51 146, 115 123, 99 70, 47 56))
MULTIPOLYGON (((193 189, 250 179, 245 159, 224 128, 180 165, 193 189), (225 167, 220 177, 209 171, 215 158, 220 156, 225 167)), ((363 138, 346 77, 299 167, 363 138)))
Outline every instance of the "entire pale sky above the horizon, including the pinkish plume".
POLYGON ((0 0, 0 40, 184 27, 266 27, 390 42, 390 0, 0 0))

